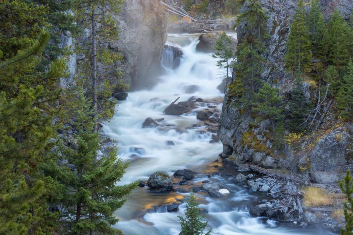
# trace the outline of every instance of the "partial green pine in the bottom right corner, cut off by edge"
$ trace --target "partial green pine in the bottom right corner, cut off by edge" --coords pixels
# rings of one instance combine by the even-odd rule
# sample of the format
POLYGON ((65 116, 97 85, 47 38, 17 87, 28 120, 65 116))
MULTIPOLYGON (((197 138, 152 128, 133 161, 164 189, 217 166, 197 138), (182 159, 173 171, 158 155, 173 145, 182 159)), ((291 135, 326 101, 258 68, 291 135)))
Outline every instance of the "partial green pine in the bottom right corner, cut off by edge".
POLYGON ((353 180, 350 171, 347 171, 345 178, 340 181, 340 188, 347 199, 344 203, 346 227, 341 229, 341 235, 353 235, 353 180))

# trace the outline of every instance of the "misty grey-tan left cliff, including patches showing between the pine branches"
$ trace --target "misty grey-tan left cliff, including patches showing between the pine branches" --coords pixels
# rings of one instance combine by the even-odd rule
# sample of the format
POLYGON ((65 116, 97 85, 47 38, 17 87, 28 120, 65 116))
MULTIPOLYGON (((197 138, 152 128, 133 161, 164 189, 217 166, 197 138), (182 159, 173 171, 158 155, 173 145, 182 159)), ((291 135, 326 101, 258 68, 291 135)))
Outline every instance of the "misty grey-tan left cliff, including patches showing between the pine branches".
MULTIPOLYGON (((100 9, 100 14, 110 11, 107 6, 100 9)), ((113 14, 113 19, 119 25, 119 38, 113 42, 97 43, 119 53, 124 61, 115 61, 113 67, 103 67, 98 63, 98 74, 109 79, 113 85, 122 79, 132 88, 150 84, 155 77, 153 73, 159 68, 161 50, 167 40, 167 17, 159 1, 154 0, 125 0, 121 12, 113 14), (117 75, 117 69, 122 77, 117 75)), ((86 29, 89 33, 91 29, 86 29)), ((88 37, 71 38, 62 36, 62 47, 74 46, 79 42, 84 46, 91 43, 88 37)), ((84 54, 73 54, 68 62, 71 78, 61 81, 63 87, 70 85, 72 77, 78 73, 77 62, 84 59, 84 54)), ((98 80, 99 81, 99 80, 98 80)))

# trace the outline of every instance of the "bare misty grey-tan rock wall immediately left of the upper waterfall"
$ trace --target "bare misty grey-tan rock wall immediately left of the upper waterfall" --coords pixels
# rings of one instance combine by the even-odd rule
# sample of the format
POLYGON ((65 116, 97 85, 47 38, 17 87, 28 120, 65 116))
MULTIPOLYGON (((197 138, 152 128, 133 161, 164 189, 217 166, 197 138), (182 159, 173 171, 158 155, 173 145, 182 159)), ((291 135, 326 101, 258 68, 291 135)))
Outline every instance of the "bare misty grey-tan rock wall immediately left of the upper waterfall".
POLYGON ((124 61, 119 64, 123 78, 133 88, 142 87, 153 79, 158 68, 161 50, 167 41, 167 16, 159 1, 125 0, 119 23, 120 39, 110 43, 119 50, 124 61))

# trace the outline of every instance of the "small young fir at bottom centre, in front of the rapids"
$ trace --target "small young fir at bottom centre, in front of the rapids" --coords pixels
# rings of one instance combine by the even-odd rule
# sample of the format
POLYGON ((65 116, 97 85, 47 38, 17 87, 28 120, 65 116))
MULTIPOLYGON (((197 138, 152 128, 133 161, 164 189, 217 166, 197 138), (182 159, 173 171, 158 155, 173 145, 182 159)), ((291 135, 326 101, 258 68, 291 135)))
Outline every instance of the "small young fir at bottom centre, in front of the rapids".
MULTIPOLYGON (((178 216, 181 226, 180 234, 203 235, 208 221, 202 222, 206 216, 201 216, 201 213, 202 212, 198 208, 198 203, 196 202, 195 194, 191 192, 190 198, 187 200, 185 218, 183 216, 178 216)), ((211 229, 204 235, 211 235, 211 229)))

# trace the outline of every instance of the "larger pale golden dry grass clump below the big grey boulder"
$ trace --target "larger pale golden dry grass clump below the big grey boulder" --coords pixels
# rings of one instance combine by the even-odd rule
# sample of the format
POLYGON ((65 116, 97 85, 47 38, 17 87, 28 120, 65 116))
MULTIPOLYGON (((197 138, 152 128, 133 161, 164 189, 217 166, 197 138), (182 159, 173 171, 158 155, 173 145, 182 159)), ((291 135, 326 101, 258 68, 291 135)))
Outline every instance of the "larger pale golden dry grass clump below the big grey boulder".
POLYGON ((303 192, 303 201, 306 207, 325 206, 331 204, 331 197, 329 196, 329 193, 322 188, 305 187, 303 192))

